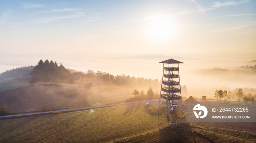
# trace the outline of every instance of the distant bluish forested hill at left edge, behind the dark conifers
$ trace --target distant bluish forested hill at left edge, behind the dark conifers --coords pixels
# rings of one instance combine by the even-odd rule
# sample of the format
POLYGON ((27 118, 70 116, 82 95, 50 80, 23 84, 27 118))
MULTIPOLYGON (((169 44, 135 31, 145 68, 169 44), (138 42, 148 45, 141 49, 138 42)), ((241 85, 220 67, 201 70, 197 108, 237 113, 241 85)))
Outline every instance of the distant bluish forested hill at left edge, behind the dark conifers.
POLYGON ((17 67, 16 69, 6 70, 3 73, 0 73, 0 80, 30 75, 34 67, 35 66, 23 66, 17 67))

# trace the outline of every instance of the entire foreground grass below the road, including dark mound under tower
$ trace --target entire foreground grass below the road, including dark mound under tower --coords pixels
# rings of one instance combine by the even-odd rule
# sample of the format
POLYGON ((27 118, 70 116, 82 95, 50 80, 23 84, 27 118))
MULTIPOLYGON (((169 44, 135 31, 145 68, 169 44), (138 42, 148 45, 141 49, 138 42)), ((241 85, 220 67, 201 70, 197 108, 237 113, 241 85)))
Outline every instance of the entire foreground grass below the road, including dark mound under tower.
POLYGON ((157 107, 136 103, 1 119, 0 142, 254 143, 256 134, 194 125, 180 111, 166 116, 157 107))

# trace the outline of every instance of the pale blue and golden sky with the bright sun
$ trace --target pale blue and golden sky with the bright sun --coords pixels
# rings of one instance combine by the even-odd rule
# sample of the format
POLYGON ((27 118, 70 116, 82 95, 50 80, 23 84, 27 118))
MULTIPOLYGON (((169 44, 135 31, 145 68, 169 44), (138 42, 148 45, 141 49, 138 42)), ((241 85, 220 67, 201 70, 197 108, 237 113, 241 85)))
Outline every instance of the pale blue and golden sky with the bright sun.
POLYGON ((256 59, 256 1, 0 3, 0 73, 49 59, 85 72, 160 80, 159 62, 170 58, 184 62, 180 74, 186 85, 195 80, 191 70, 255 65, 248 61, 256 59))

